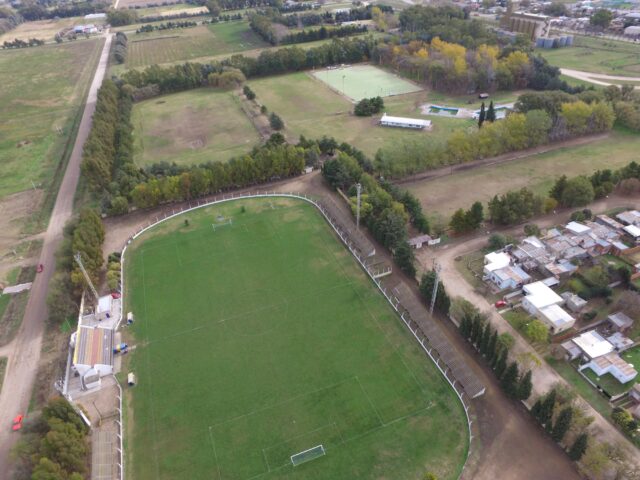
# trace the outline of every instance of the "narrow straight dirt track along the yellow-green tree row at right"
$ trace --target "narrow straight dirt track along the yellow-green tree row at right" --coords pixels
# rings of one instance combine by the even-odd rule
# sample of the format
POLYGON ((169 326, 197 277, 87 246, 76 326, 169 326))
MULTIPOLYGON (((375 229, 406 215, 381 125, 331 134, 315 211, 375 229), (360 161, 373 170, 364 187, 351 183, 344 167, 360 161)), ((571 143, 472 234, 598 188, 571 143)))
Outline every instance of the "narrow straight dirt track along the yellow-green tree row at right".
POLYGON ((599 135, 589 135, 586 137, 573 138, 571 140, 565 140, 563 142, 551 143, 548 145, 541 145, 535 148, 528 148, 526 150, 518 150, 517 152, 505 153, 504 155, 498 155, 497 157, 484 158, 482 160, 475 160, 473 162, 461 163, 458 165, 451 165, 448 167, 437 168, 434 170, 428 170, 426 172, 416 173, 408 177, 403 177, 394 181, 397 185, 410 186, 412 183, 425 182, 436 180, 437 178, 453 175, 456 172, 474 170, 476 168, 487 167, 491 165, 500 165, 503 163, 512 162, 515 160, 521 160, 527 157, 533 157, 542 153, 553 152, 561 148, 578 147, 580 145, 588 145, 593 142, 600 142, 609 138, 609 133, 603 133, 599 135))

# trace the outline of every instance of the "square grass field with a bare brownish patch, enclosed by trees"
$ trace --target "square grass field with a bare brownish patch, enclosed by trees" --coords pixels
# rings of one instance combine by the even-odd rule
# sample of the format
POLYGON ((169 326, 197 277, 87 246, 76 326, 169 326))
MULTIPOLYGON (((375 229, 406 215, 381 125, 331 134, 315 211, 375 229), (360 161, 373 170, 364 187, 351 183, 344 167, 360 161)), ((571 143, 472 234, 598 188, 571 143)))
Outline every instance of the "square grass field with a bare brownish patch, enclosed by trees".
POLYGON ((234 92, 206 88, 136 103, 135 162, 195 165, 248 153, 260 137, 234 92))

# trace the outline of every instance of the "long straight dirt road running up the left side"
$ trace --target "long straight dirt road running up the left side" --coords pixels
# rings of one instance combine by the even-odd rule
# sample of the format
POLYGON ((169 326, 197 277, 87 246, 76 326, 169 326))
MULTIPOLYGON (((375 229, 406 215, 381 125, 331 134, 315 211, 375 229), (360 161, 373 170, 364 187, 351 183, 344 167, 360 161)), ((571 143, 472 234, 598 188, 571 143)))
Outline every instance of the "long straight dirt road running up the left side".
POLYGON ((107 32, 100 62, 91 83, 87 103, 78 128, 78 136, 73 145, 67 170, 62 179, 51 219, 49 220, 49 226, 44 236, 39 263, 45 265, 45 269, 43 273, 37 275, 33 282, 22 325, 15 340, 10 344, 11 350, 8 352, 7 373, 2 392, 0 392, 0 472, 9 471, 8 455, 11 446, 18 438, 17 435, 12 434, 9 428, 11 419, 17 413, 26 412, 29 407, 31 390, 40 360, 44 322, 47 318, 46 297, 49 281, 53 276, 54 254, 62 239, 64 225, 73 213, 73 198, 78 185, 78 178, 80 177, 82 147, 91 130, 97 93, 107 68, 110 45, 111 35, 107 32))

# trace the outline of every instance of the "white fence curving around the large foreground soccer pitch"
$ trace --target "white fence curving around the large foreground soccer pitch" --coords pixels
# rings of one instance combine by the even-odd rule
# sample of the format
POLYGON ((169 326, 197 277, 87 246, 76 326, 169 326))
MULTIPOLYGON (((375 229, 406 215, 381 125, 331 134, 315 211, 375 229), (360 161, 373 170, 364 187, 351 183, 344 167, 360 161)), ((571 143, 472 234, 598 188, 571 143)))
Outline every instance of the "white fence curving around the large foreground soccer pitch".
MULTIPOLYGON (((406 325, 406 327, 409 329, 409 331, 412 333, 412 335, 415 337, 416 341, 418 342, 418 344, 421 346, 421 348, 424 350, 424 352, 427 354, 427 356, 431 359, 431 361, 436 365, 436 367, 438 368, 438 370, 440 371, 440 373, 442 374, 442 376, 447 380, 447 382, 449 383, 449 385, 451 385, 451 388, 453 388, 453 391, 456 393, 457 397, 460 399, 460 402, 462 403, 462 407, 464 409, 465 412, 465 417, 467 419, 467 429, 469 430, 469 449, 467 450, 467 458, 465 459, 465 464, 463 466, 462 472, 460 473, 460 477, 462 477, 462 473, 464 472, 464 467, 467 464, 467 460, 469 459, 469 456, 471 454, 471 443, 473 440, 473 433, 472 433, 472 424, 473 421, 471 420, 470 414, 469 414, 469 409, 470 409, 470 404, 467 403, 467 401, 464 399, 464 395, 466 395, 466 392, 464 392, 464 390, 458 390, 458 388, 456 387, 456 379, 453 377, 453 375, 451 375, 452 378, 449 378, 449 376, 447 375, 447 371, 450 371, 450 369, 447 367, 447 365, 445 364, 445 362, 442 362, 442 365, 439 362, 439 357, 436 357, 433 355, 433 351, 435 350, 433 347, 429 348, 429 345, 426 344, 425 345, 425 339, 420 339, 420 336, 418 335, 418 331, 420 330, 419 326, 416 326, 415 331, 413 330, 413 328, 411 328, 411 318, 409 317, 409 315, 406 312, 401 312, 399 307, 401 307, 400 301, 388 294, 384 287, 382 286, 381 281, 378 279, 378 274, 379 272, 376 271, 372 271, 364 262, 365 257, 363 257, 360 253, 358 253, 357 249, 355 248, 355 245, 353 244, 353 242, 349 239, 348 234, 344 231, 344 227, 341 228, 337 221, 331 216, 331 214, 329 213, 329 211, 316 199, 312 198, 312 197, 308 197, 307 195, 303 194, 303 193, 293 193, 293 192, 289 192, 289 193, 285 193, 285 192, 255 192, 255 193, 242 193, 242 194, 230 194, 230 195, 222 195, 221 198, 218 197, 214 197, 213 200, 209 200, 209 201, 196 201, 195 204, 193 204, 192 202, 189 203, 189 206, 187 208, 181 208, 179 210, 176 209, 172 209, 171 213, 165 213, 164 216, 162 218, 160 218, 159 216, 156 216, 155 221, 151 221, 149 222, 148 225, 146 225, 145 227, 142 227, 141 229, 139 229, 138 231, 136 231, 136 233, 134 233, 128 240, 126 245, 124 246, 124 248, 122 249, 122 255, 120 258, 120 278, 121 278, 121 292, 122 292, 122 308, 120 309, 120 318, 118 319, 118 322, 116 324, 115 329, 117 329, 120 326, 120 323, 122 322, 122 319, 124 318, 125 315, 125 311, 127 309, 124 308, 124 297, 125 297, 125 276, 124 276, 124 265, 125 265, 125 254, 127 251, 127 247, 128 245, 134 241, 135 239, 137 239, 140 235, 142 235, 144 232, 146 232, 147 230, 149 230, 150 228, 155 227, 156 225, 163 223, 167 220, 170 220, 172 218, 177 217, 178 215, 181 215, 183 213, 187 213, 187 212, 191 212, 193 210, 197 210, 199 208, 204 208, 204 207, 209 207, 212 205, 217 205, 217 204, 221 204, 221 203, 225 203, 225 202, 230 202, 230 201, 234 201, 234 200, 243 200, 243 199, 252 199, 252 198, 295 198, 298 200, 303 200, 305 202, 308 202, 310 204, 312 204, 313 206, 315 206, 320 213, 322 213, 322 216, 325 218, 325 220, 327 221, 327 223, 329 223, 329 225, 331 225, 331 228, 333 228, 334 232, 338 235, 338 237, 340 237, 340 240, 342 240, 342 243, 344 243, 344 245, 347 247, 347 249, 351 252, 351 254, 354 256, 354 258, 358 261, 358 263, 360 264, 360 266, 362 267, 362 269, 366 272, 366 274, 369 276, 369 278, 373 281, 373 283, 376 285, 376 287, 378 287, 378 290, 380 290, 380 292, 382 292, 382 294, 384 295, 384 297, 387 299, 387 301, 389 302, 389 304, 391 305, 391 307, 396 311, 396 313, 398 314, 398 316, 402 319, 402 321, 404 322, 404 324, 406 325), (409 320, 407 320, 407 318, 405 317, 409 317, 409 320)), ((122 402, 122 399, 120 399, 120 401, 122 402)), ((122 410, 120 410, 120 425, 121 425, 121 436, 120 436, 120 441, 123 441, 123 436, 124 436, 124 428, 123 428, 123 423, 122 423, 122 410)), ((124 451, 121 448, 120 449, 120 480, 124 480, 124 451)))

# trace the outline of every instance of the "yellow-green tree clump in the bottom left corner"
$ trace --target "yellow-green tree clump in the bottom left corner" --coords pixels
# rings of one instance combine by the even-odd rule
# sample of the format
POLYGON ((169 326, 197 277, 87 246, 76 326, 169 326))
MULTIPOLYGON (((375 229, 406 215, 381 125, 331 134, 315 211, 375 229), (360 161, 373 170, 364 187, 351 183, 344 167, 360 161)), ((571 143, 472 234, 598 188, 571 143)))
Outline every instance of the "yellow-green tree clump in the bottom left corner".
POLYGON ((62 397, 26 420, 14 447, 16 480, 82 480, 87 475, 89 428, 62 397))

